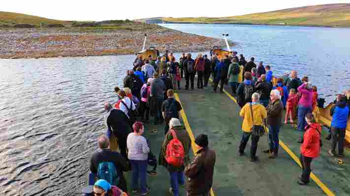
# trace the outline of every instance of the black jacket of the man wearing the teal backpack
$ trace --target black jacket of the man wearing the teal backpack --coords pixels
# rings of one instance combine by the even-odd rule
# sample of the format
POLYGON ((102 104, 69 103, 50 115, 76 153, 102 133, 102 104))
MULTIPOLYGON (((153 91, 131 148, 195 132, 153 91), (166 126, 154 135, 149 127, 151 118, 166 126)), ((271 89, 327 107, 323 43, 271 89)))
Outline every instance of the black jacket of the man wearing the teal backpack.
POLYGON ((119 188, 127 191, 127 184, 123 172, 129 171, 127 160, 119 153, 111 151, 110 149, 101 149, 96 151, 90 160, 90 171, 97 173, 98 164, 102 162, 112 162, 117 169, 118 176, 120 176, 119 188))

